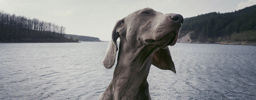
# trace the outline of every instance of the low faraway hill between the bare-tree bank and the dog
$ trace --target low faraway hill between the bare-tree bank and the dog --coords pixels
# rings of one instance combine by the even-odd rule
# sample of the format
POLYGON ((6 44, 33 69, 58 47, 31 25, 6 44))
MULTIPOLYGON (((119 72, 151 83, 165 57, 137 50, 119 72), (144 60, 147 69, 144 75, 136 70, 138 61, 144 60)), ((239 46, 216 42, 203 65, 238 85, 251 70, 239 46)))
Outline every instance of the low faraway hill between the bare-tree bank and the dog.
MULTIPOLYGON (((67 34, 67 38, 70 38, 71 34, 67 34)), ((73 38, 78 38, 79 41, 92 41, 92 42, 97 42, 97 41, 101 41, 99 38, 95 38, 95 37, 90 37, 90 36, 81 36, 81 35, 73 35, 73 38)))

